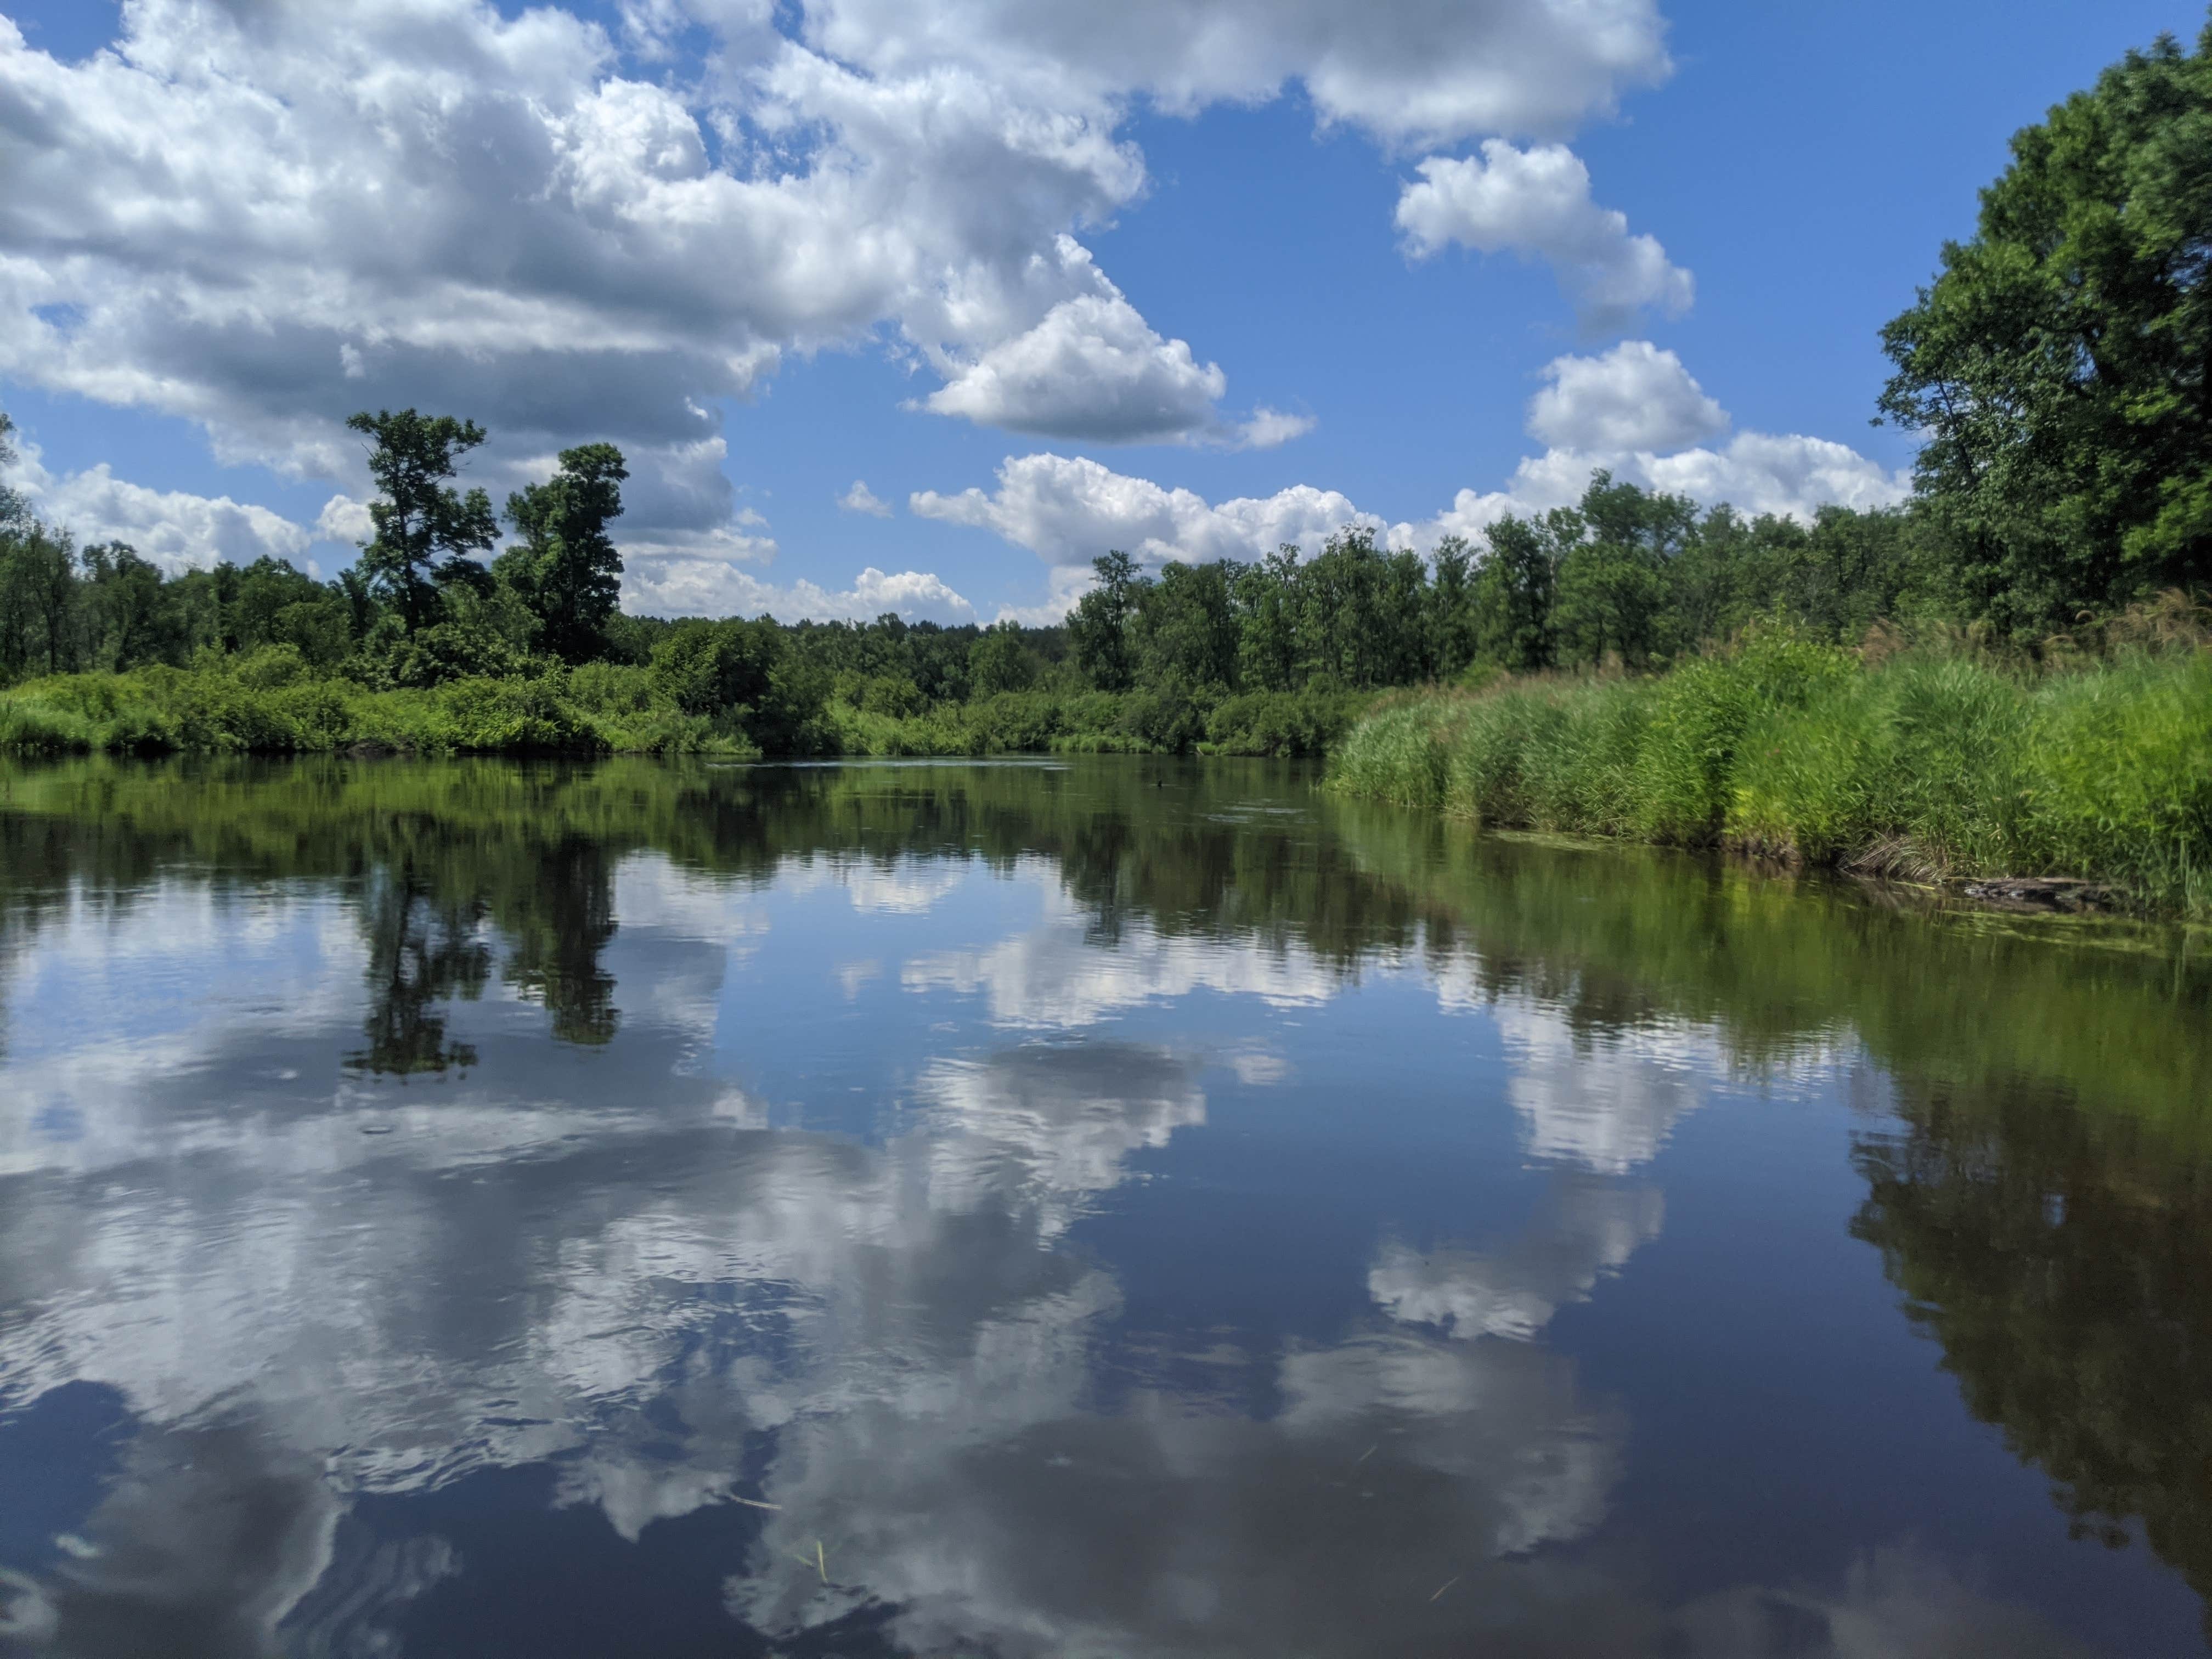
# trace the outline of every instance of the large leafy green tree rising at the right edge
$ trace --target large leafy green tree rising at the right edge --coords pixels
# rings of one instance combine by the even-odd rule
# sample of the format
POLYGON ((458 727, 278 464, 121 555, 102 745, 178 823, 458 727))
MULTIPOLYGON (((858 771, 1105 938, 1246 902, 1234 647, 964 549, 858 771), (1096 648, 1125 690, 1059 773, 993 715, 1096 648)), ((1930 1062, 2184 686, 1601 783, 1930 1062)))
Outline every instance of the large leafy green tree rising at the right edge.
POLYGON ((1971 608, 2026 633, 2212 577, 2212 27, 2022 128, 1882 345, 1971 608))

